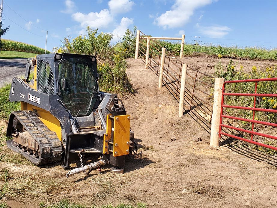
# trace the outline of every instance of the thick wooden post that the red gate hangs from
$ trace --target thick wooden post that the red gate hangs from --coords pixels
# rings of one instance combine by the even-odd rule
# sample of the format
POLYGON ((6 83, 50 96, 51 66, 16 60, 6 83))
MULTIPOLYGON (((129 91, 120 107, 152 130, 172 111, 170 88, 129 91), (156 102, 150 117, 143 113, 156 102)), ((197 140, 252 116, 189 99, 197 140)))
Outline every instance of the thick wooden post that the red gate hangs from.
POLYGON ((219 146, 219 122, 220 122, 220 111, 221 111, 221 100, 222 100, 222 86, 224 78, 215 78, 214 81, 214 98, 213 98, 213 114, 211 121, 211 140, 210 146, 219 146))

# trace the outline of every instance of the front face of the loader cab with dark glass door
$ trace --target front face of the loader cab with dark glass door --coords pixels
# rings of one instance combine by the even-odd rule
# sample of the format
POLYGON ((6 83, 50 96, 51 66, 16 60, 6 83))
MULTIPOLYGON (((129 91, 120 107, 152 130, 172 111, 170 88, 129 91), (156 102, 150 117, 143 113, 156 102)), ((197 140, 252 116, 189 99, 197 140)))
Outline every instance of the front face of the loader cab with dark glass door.
POLYGON ((58 62, 58 95, 73 116, 91 114, 97 100, 98 75, 96 58, 61 54, 58 62))

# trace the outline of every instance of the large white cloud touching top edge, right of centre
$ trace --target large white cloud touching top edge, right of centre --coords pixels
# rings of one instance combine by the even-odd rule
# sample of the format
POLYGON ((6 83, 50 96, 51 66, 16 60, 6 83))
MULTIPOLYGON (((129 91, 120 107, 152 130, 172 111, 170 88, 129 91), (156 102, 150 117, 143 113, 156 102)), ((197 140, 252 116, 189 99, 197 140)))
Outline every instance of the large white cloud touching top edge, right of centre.
POLYGON ((213 0, 176 0, 171 10, 156 18, 155 24, 163 29, 184 26, 193 15, 195 9, 211 4, 213 0))

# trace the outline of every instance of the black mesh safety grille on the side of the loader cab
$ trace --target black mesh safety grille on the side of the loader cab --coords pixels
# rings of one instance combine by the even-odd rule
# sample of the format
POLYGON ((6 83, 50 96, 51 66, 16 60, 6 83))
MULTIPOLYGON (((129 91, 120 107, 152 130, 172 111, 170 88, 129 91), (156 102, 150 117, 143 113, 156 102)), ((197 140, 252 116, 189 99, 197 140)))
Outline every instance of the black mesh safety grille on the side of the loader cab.
POLYGON ((37 60, 37 91, 55 95, 53 71, 48 62, 40 59, 37 60))

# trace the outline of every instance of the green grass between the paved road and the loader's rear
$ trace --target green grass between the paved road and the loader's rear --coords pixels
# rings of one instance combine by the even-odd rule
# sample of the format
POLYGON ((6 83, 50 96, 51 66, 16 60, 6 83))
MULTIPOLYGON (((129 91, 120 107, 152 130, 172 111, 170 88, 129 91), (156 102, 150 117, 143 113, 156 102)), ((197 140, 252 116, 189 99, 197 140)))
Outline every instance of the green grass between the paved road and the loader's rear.
POLYGON ((9 119, 10 113, 20 109, 20 102, 10 102, 11 84, 7 84, 0 88, 0 119, 7 121, 9 119))

